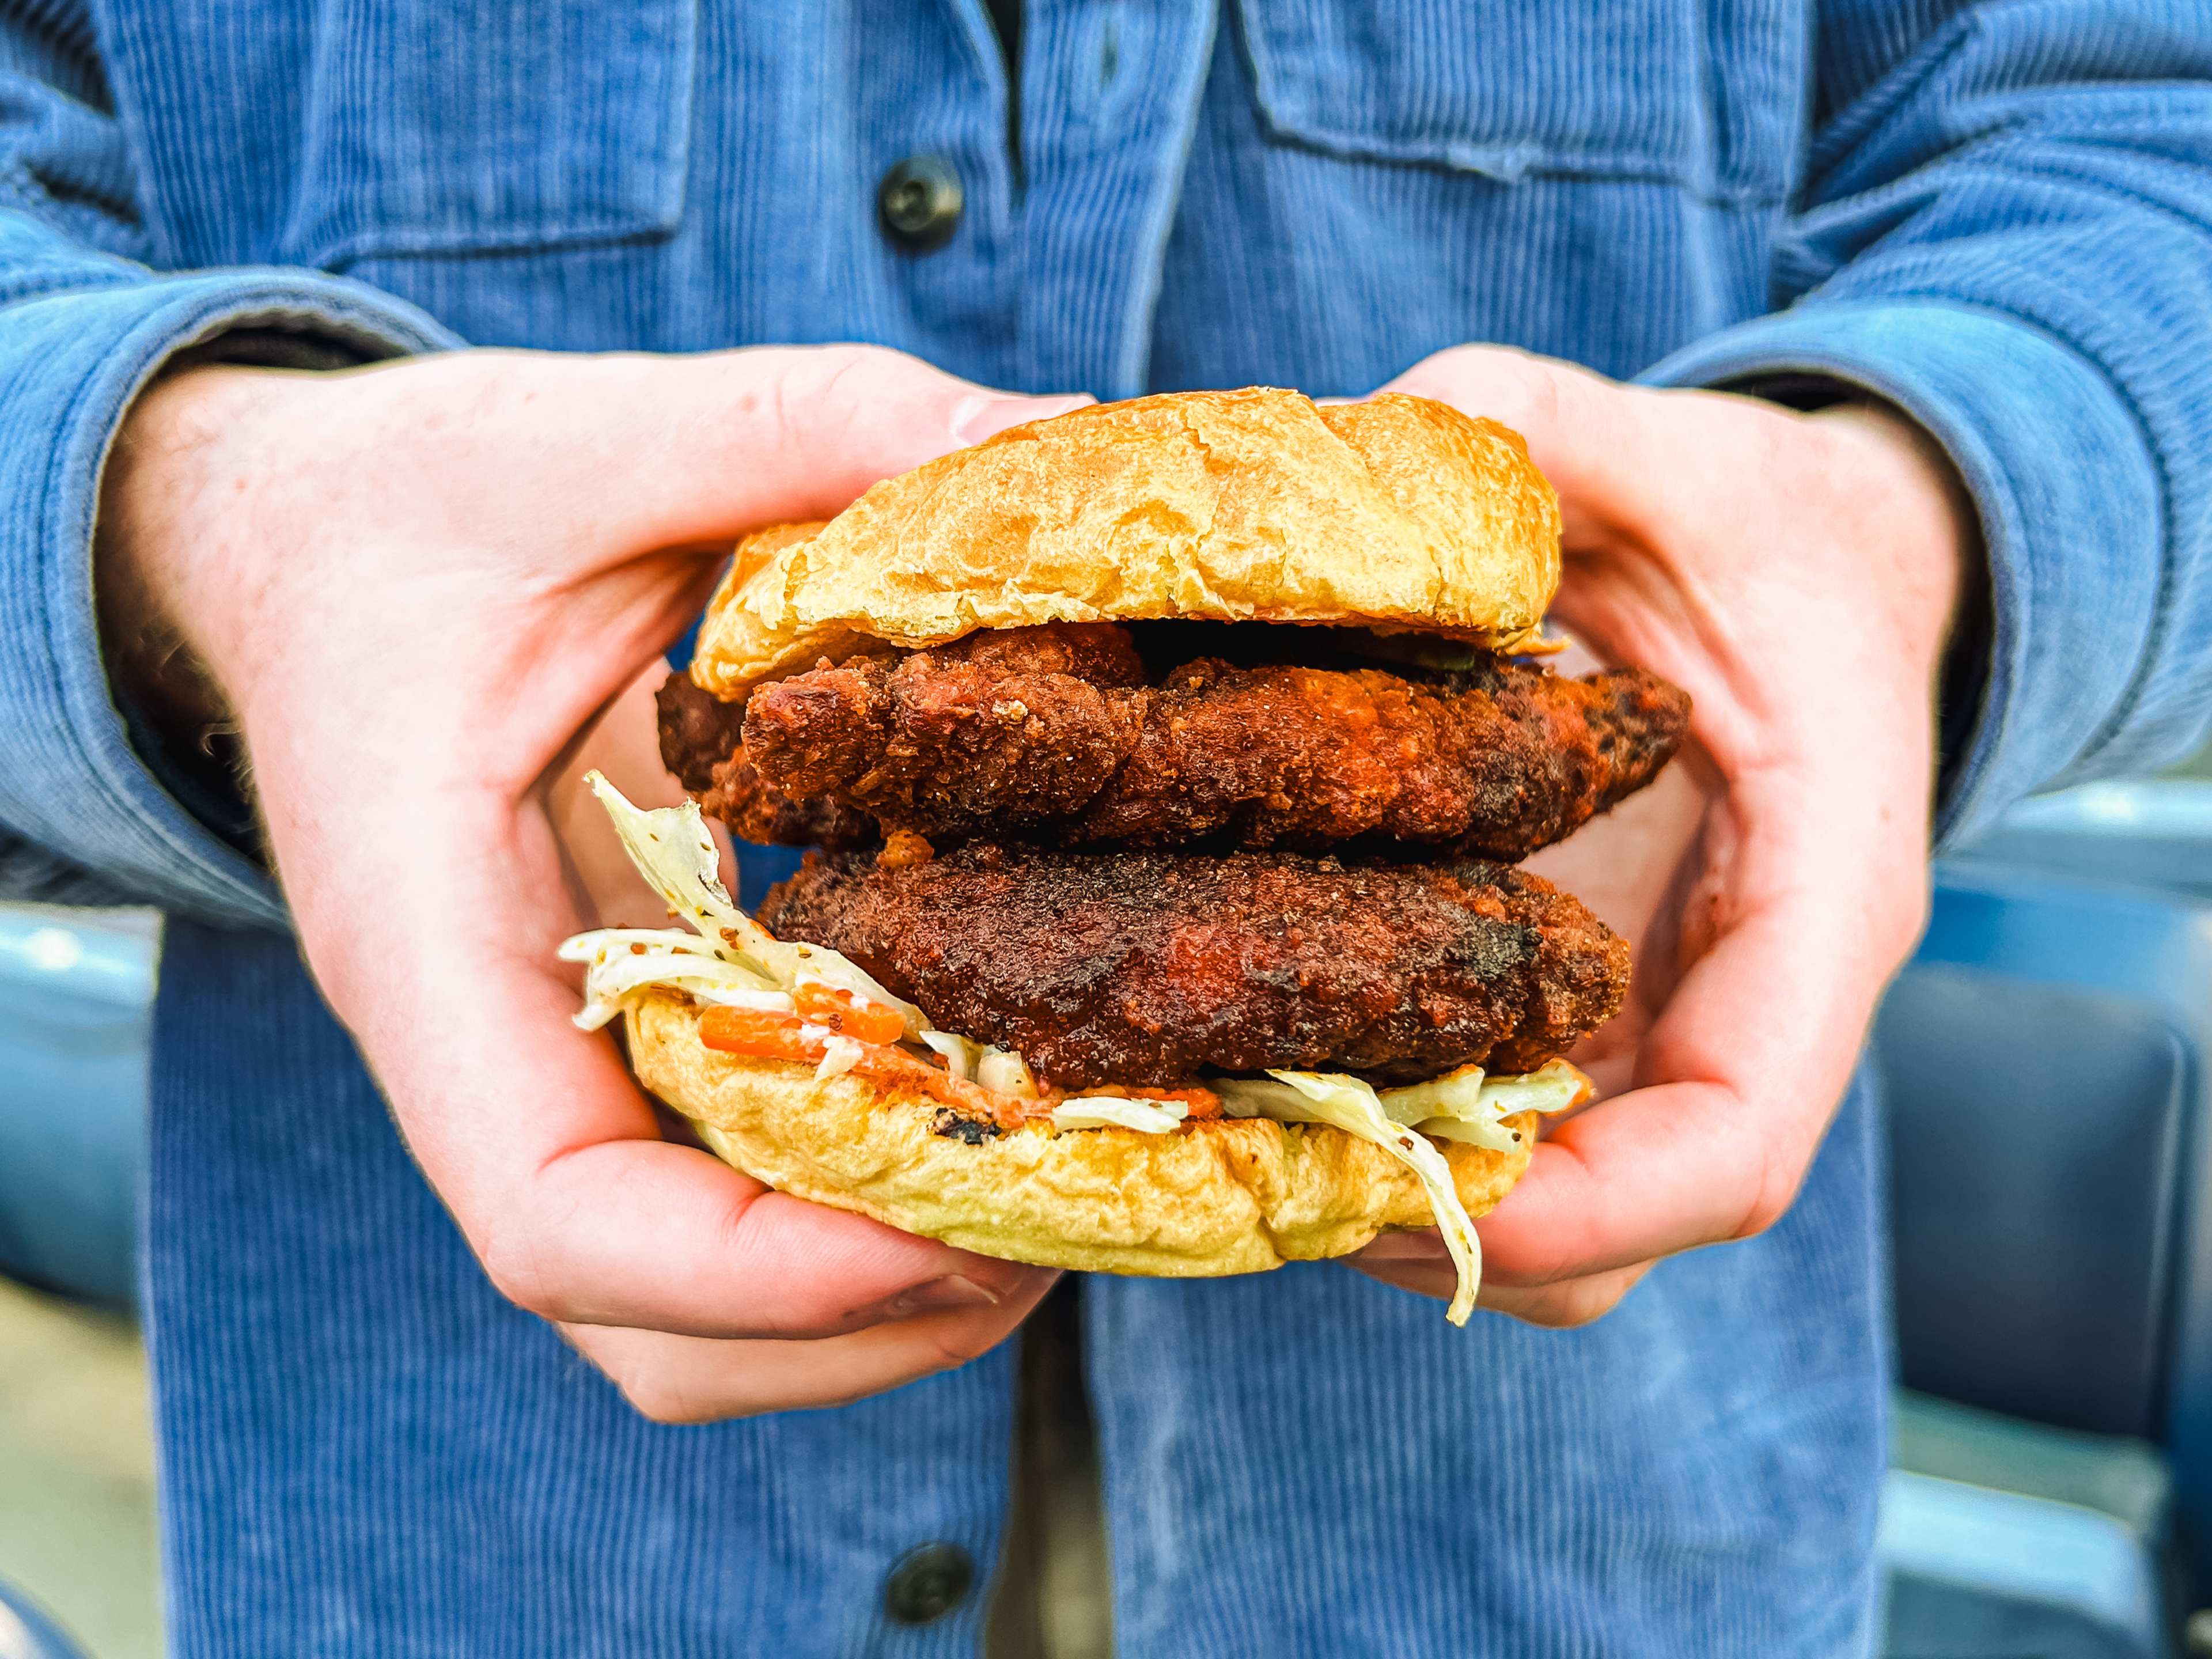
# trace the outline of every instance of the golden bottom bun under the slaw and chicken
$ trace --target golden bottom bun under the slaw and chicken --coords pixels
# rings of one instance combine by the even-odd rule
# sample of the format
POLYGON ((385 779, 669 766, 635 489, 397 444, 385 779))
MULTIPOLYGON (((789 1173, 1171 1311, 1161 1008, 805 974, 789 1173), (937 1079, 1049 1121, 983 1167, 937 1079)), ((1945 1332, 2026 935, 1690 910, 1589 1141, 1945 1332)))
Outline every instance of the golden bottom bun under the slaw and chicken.
MULTIPOLYGON (((801 1199, 1006 1261, 1208 1279, 1343 1256, 1383 1228, 1433 1225, 1411 1172, 1369 1141, 1256 1117, 1053 1133, 1033 1124, 978 1146, 929 1128, 920 1091, 739 1060, 699 1042, 699 1009, 655 993, 628 1011, 630 1066, 726 1164, 801 1199)), ((1469 1214, 1491 1210, 1535 1144, 1444 1141, 1469 1214)))

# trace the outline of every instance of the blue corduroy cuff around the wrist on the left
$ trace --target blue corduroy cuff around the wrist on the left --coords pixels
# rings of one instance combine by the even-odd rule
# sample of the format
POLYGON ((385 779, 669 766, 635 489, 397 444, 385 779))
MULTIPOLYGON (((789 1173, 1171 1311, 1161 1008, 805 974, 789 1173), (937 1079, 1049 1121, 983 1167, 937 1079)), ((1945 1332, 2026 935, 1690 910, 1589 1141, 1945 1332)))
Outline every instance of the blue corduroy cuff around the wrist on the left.
POLYGON ((133 745, 93 608, 93 520, 117 427, 166 365, 239 332, 356 363, 460 345, 403 301, 294 270, 106 281, 0 310, 0 429, 18 434, 0 445, 0 823, 117 898, 283 925, 270 874, 133 745))

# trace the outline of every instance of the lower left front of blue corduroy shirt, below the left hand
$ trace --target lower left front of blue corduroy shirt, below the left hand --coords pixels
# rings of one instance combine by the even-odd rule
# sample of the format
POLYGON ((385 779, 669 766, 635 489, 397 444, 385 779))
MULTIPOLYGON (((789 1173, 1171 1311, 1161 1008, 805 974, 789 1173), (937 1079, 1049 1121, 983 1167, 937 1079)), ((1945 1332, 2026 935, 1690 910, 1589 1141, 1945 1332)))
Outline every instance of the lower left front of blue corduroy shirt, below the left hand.
MULTIPOLYGON (((484 1283, 285 936, 179 922, 164 958, 146 1279, 175 1652, 867 1652, 914 1542, 993 1559, 1009 1354, 845 1411, 655 1427, 484 1283)), ((898 1650, 978 1630, 969 1606, 898 1650)))

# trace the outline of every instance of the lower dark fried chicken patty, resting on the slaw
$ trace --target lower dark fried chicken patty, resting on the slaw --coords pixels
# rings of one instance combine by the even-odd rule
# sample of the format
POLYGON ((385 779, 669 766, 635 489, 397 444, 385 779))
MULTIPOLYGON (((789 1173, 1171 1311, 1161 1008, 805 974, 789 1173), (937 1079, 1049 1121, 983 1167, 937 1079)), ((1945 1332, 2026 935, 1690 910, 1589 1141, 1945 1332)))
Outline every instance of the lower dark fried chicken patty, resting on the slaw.
POLYGON ((1385 1084, 1528 1071, 1628 987, 1626 940, 1484 860, 969 843, 885 869, 814 854, 761 922, 843 951, 947 1031, 1020 1048, 1060 1088, 1270 1066, 1385 1084))

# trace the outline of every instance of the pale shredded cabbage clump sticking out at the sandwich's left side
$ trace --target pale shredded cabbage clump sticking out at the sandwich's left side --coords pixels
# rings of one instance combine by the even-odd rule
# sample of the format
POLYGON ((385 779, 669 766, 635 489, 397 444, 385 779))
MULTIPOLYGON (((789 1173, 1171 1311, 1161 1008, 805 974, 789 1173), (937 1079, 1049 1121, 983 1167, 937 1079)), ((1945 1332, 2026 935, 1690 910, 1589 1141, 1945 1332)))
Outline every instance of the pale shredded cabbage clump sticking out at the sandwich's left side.
MULTIPOLYGON (((630 805, 622 790, 597 772, 586 772, 584 783, 599 796, 606 816, 615 821, 615 834, 622 836, 622 849, 630 854, 637 874, 646 878, 653 891, 677 916, 699 931, 706 951, 750 973, 757 982, 752 989, 790 991, 810 980, 832 984, 841 991, 852 991, 863 1002, 896 1009, 907 1022, 909 1037, 920 1037, 929 1029, 929 1020, 922 1018, 920 1009, 902 998, 894 998, 858 964, 821 945, 787 945, 745 916, 730 898, 730 889, 721 885, 721 858, 714 852, 714 838, 706 832, 706 818, 699 816, 697 801, 686 801, 681 807, 644 810, 630 805)), ((602 933, 619 933, 626 942, 648 942, 648 953, 635 960, 648 960, 655 949, 653 942, 668 958, 668 971, 661 978, 639 978, 637 969, 628 969, 622 975, 624 991, 615 998, 617 1009, 622 995, 641 991, 646 984, 690 989, 690 984, 684 984, 686 978, 695 982, 734 980, 734 975, 701 973, 692 960, 679 962, 677 958, 697 958, 699 945, 692 945, 688 936, 675 929, 602 929, 602 933)), ((591 949, 584 947, 584 940, 591 938, 595 936, 580 933, 568 940, 562 947, 562 956, 568 960, 593 960, 591 949), (584 949, 584 953, 568 956, 571 947, 584 949)), ((595 1018, 597 1024, 606 1024, 613 1018, 613 1013, 602 1013, 588 1000, 588 987, 582 1018, 595 1018)))

